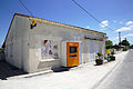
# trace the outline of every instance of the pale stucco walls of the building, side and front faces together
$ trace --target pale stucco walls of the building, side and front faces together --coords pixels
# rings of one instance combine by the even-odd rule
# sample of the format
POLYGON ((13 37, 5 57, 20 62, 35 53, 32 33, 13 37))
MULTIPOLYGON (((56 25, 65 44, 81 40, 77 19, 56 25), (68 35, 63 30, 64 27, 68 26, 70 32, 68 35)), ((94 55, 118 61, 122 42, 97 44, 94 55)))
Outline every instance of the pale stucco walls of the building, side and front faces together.
POLYGON ((81 63, 88 63, 90 61, 89 41, 94 42, 94 56, 96 44, 100 46, 100 52, 104 50, 104 41, 84 39, 84 36, 103 38, 104 34, 102 33, 49 23, 41 19, 37 19, 37 27, 31 29, 30 24, 33 19, 34 18, 17 16, 6 41, 7 61, 27 72, 35 72, 60 67, 63 52, 61 50, 65 49, 61 46, 63 41, 81 41, 81 63), (44 40, 52 40, 58 43, 58 59, 42 60, 41 48, 44 40))

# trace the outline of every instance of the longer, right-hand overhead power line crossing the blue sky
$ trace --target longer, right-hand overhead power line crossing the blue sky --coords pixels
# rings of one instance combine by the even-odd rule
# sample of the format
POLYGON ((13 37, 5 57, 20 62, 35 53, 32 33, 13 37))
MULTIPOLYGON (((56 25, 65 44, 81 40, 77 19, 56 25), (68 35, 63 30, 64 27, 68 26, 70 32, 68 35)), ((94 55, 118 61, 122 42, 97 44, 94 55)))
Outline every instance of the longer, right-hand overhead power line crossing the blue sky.
MULTIPOLYGON (((101 23, 101 21, 98 19, 98 18, 95 18, 93 14, 91 14, 88 10, 85 10, 80 3, 78 3, 75 0, 72 0, 80 9, 82 9, 84 12, 86 12, 86 14, 88 16, 90 16, 91 18, 93 18, 95 21, 98 21, 99 23, 101 23)), ((103 24, 103 23, 101 23, 102 26, 105 26, 105 24, 103 24)), ((108 29, 110 29, 110 30, 112 30, 112 31, 114 31, 113 29, 111 29, 111 28, 109 28, 109 27, 106 27, 105 26, 105 28, 108 28, 108 29)))

